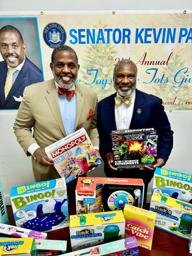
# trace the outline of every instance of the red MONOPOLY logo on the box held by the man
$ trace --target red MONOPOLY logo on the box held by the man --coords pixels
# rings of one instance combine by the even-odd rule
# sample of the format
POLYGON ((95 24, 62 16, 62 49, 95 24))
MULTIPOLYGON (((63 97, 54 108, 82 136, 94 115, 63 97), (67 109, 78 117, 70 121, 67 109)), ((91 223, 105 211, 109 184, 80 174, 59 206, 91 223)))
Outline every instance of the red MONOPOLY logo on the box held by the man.
POLYGON ((57 150, 50 152, 50 155, 52 156, 52 158, 56 158, 59 155, 62 155, 65 151, 78 146, 78 144, 80 145, 86 139, 87 139, 86 136, 82 135, 79 138, 76 138, 75 140, 72 140, 71 142, 61 146, 60 148, 57 148, 57 150))

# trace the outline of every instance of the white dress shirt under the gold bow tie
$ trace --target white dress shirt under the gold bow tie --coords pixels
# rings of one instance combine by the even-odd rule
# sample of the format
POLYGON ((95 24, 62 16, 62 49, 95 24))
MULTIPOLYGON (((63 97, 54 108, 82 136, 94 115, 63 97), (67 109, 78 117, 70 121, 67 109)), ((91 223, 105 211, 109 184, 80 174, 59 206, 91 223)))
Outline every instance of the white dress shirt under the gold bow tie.
MULTIPOLYGON (((115 121, 117 130, 129 129, 131 124, 131 118, 133 115, 133 108, 135 103, 135 90, 130 95, 132 97, 131 103, 127 105, 125 102, 122 102, 119 106, 115 104, 115 121)), ((117 93, 117 97, 123 98, 117 93)))

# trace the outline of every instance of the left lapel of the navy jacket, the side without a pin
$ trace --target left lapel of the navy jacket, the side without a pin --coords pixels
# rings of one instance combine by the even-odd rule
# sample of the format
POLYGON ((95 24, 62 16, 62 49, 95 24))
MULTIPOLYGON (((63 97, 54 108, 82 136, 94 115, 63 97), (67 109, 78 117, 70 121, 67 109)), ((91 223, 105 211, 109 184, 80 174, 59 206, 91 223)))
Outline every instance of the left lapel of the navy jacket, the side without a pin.
POLYGON ((110 95, 109 101, 106 105, 106 113, 107 113, 107 121, 108 127, 110 130, 116 130, 116 121, 115 121, 115 101, 114 97, 116 97, 116 93, 110 95))

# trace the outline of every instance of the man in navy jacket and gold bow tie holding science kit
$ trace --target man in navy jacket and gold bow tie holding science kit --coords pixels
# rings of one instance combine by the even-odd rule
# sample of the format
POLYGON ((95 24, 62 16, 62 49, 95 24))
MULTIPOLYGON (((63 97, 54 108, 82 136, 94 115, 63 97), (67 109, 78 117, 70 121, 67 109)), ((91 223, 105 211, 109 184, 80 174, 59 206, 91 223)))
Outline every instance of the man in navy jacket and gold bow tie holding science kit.
POLYGON ((142 178, 145 184, 144 203, 148 183, 153 178, 156 167, 165 165, 173 148, 173 131, 162 105, 162 99, 136 89, 137 67, 131 60, 121 60, 114 68, 113 84, 115 94, 98 103, 97 125, 99 132, 99 152, 105 162, 107 177, 142 178), (115 97, 131 96, 130 104, 115 104, 115 97), (157 164, 143 169, 117 170, 113 167, 111 130, 152 128, 157 130, 157 164))

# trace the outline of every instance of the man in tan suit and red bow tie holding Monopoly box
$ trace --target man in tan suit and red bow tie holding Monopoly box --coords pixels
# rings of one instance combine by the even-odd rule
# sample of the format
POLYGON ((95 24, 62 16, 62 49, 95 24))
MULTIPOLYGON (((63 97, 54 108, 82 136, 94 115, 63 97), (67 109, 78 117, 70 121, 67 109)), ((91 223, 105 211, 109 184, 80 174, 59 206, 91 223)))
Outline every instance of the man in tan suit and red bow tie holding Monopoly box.
MULTIPOLYGON (((60 177, 53 166, 54 161, 46 156, 45 147, 80 128, 86 129, 100 156, 97 95, 91 89, 75 83, 79 70, 75 51, 67 45, 55 48, 50 68, 54 79, 25 88, 14 123, 19 144, 27 156, 32 155, 35 181, 60 177), (65 91, 62 93, 63 89, 65 91), (69 99, 66 91, 75 94, 69 99), (94 114, 88 119, 90 110, 94 114), (31 128, 34 129, 33 136, 31 128)), ((69 182, 70 187, 72 182, 69 182)))

